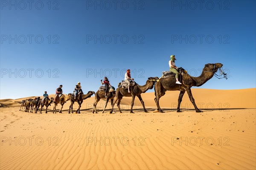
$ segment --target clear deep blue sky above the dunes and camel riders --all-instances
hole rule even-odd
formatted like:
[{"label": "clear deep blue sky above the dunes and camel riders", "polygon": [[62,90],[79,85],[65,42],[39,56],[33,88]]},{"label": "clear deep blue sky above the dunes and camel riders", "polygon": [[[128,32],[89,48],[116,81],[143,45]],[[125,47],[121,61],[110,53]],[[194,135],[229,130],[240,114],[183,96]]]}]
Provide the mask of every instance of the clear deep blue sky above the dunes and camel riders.
[{"label": "clear deep blue sky above the dunes and camel riders", "polygon": [[255,88],[256,2],[199,2],[1,0],[0,98],[97,91],[104,76],[116,87],[128,68],[143,85],[172,54],[192,76],[224,65],[229,79],[200,88]]}]

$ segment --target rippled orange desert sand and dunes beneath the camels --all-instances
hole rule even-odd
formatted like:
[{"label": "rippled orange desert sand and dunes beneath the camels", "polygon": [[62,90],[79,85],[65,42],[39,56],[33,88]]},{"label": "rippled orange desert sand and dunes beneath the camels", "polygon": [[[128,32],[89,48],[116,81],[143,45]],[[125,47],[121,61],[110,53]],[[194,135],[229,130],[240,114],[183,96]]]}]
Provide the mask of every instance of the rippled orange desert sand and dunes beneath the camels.
[{"label": "rippled orange desert sand and dunes beneath the camels", "polygon": [[[1,99],[0,169],[256,169],[256,88],[192,89],[202,113],[187,94],[176,112],[178,91],[160,99],[142,94],[149,113],[135,100],[122,100],[122,111],[92,113],[94,96],[84,100],[81,114],[19,111],[22,99]],[[54,95],[50,95],[54,96]],[[75,103],[74,109],[78,108]],[[116,106],[115,106],[116,108]],[[59,108],[58,108],[59,109]],[[57,110],[58,112],[58,110]]]}]

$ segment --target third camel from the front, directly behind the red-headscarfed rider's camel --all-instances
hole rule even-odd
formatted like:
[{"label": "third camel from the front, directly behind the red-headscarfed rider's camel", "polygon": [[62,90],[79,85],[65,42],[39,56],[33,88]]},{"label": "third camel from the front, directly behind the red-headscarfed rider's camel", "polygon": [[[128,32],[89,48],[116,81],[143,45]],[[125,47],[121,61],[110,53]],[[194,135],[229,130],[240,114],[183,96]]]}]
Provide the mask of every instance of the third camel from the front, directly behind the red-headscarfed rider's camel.
[{"label": "third camel from the front, directly behind the red-headscarfed rider's camel", "polygon": [[[108,101],[109,99],[111,100],[111,106],[113,105],[113,99],[114,97],[116,96],[116,91],[112,91],[112,92],[108,92],[107,94],[107,99],[106,99],[106,103],[105,105],[103,106],[103,111],[102,113],[104,113],[107,105],[108,105]],[[97,103],[99,102],[100,99],[105,99],[105,91],[97,91],[96,94],[95,94],[95,101],[93,103],[93,113],[95,111],[95,113],[98,113],[96,111],[96,106],[97,106]]]}]

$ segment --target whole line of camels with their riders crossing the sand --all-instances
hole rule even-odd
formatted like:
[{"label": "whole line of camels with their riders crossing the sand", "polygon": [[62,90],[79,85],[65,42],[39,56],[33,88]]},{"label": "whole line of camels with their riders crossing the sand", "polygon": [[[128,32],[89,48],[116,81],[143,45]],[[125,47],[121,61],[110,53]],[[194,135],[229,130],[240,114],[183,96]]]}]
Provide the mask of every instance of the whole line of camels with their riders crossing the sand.
[{"label": "whole line of camels with their riders crossing the sand", "polygon": [[[75,90],[71,94],[64,95],[62,94],[62,85],[59,86],[59,88],[56,89],[55,98],[51,97],[49,98],[47,91],[44,92],[43,99],[40,97],[35,97],[34,99],[26,99],[21,101],[20,105],[20,111],[25,112],[31,112],[33,111],[35,113],[38,112],[40,108],[40,113],[42,113],[42,109],[45,106],[45,113],[47,113],[47,108],[50,105],[53,105],[53,113],[56,113],[56,107],[58,104],[61,105],[61,108],[59,110],[59,113],[62,113],[63,105],[70,100],[70,107],[69,112],[71,109],[71,113],[73,113],[73,104],[75,102],[78,103],[79,107],[75,111],[75,113],[80,113],[81,104],[83,103],[83,100],[90,98],[93,94],[95,94],[95,101],[93,103],[93,113],[98,113],[96,111],[97,103],[100,99],[105,99],[105,105],[103,106],[102,113],[105,112],[105,108],[109,102],[109,99],[111,100],[111,111],[110,113],[113,113],[114,111],[114,105],[117,102],[117,108],[119,109],[119,113],[122,113],[120,109],[120,102],[122,98],[125,97],[131,97],[131,110],[130,113],[133,112],[133,106],[134,106],[134,99],[137,96],[140,99],[140,102],[143,106],[143,110],[145,113],[148,111],[145,108],[143,99],[141,97],[142,93],[145,93],[148,91],[148,89],[153,89],[155,91],[155,98],[154,101],[157,105],[157,109],[154,112],[161,112],[164,113],[159,105],[159,100],[162,96],[165,95],[166,91],[180,91],[180,95],[178,97],[178,105],[177,105],[177,112],[180,111],[180,103],[182,101],[183,95],[185,92],[187,92],[190,101],[195,107],[196,112],[202,112],[198,109],[198,107],[195,104],[195,99],[192,96],[191,88],[192,86],[199,87],[206,83],[209,79],[211,79],[213,76],[216,76],[218,79],[221,79],[222,75],[227,79],[227,74],[224,73],[224,71],[221,69],[222,64],[221,63],[215,63],[215,64],[206,64],[204,65],[204,69],[199,77],[192,77],[189,74],[187,74],[187,71],[183,68],[178,68],[175,65],[175,55],[171,56],[171,59],[169,60],[169,71],[164,71],[162,77],[149,77],[145,85],[138,85],[133,78],[131,78],[131,71],[130,69],[127,70],[125,73],[125,80],[120,82],[118,84],[118,88],[115,89],[113,86],[111,86],[110,82],[108,81],[107,77],[104,77],[104,81],[102,83],[102,86],[100,86],[99,90],[95,93],[94,91],[88,91],[87,94],[84,94],[81,89],[81,83],[78,82],[75,86]],[[216,72],[221,72],[221,75],[217,75]]]}]

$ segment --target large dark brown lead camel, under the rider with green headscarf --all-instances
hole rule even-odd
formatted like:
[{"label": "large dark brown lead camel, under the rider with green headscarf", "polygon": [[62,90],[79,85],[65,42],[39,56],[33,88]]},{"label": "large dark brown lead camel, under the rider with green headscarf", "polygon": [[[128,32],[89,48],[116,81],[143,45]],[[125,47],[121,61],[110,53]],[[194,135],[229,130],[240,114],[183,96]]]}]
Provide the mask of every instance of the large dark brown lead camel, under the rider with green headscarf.
[{"label": "large dark brown lead camel, under the rider with green headscarf", "polygon": [[189,74],[183,73],[181,85],[178,85],[175,83],[176,82],[175,77],[159,79],[159,81],[155,84],[155,87],[154,87],[155,96],[156,96],[154,98],[154,100],[157,105],[157,110],[154,112],[164,113],[159,106],[160,97],[162,97],[166,91],[178,91],[178,90],[180,90],[180,95],[178,98],[177,112],[181,112],[180,111],[180,103],[182,101],[182,97],[185,94],[185,92],[188,93],[189,99],[195,107],[195,111],[202,112],[195,105],[195,100],[192,96],[191,87],[192,86],[199,87],[199,86],[203,85],[209,79],[211,79],[213,77],[214,73],[217,72],[218,68],[221,68],[221,67],[222,67],[221,63],[206,64],[204,66],[202,74],[199,77],[192,77]]}]

